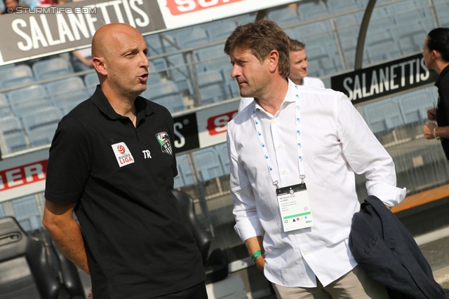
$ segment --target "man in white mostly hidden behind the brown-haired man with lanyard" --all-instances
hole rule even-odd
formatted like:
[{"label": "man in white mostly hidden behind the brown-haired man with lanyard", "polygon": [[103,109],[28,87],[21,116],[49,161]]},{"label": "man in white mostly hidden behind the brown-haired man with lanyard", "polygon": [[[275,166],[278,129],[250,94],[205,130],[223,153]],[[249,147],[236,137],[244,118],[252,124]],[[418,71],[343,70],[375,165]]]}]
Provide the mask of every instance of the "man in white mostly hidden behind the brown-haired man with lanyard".
[{"label": "man in white mostly hidden behind the brown-haired man with lanyard", "polygon": [[[290,58],[290,75],[288,78],[296,85],[324,88],[324,83],[320,78],[307,77],[309,62],[307,61],[306,45],[295,39],[288,40],[288,57]],[[253,102],[252,97],[242,97],[239,104],[239,112],[251,102]]]}]

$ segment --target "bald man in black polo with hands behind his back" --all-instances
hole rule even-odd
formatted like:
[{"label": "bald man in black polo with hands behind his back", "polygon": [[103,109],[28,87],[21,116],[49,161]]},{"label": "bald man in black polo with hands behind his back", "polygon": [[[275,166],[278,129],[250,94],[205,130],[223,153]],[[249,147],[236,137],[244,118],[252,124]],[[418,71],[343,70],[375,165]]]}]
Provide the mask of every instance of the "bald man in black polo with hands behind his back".
[{"label": "bald man in black polo with hands behind his back", "polygon": [[105,25],[93,36],[100,85],[58,125],[43,224],[91,274],[94,298],[207,298],[201,254],[171,193],[173,119],[139,96],[147,51],[129,25]]}]

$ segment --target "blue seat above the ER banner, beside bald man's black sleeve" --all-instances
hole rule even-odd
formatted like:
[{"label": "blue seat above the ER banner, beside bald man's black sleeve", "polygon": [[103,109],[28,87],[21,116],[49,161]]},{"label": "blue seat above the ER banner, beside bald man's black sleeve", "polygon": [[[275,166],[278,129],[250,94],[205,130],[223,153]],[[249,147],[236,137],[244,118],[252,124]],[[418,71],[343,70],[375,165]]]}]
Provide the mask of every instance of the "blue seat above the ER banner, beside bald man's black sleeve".
[{"label": "blue seat above the ER banner, beside bald man's black sleeve", "polygon": [[47,107],[23,116],[31,146],[50,144],[63,114],[57,107]]}]

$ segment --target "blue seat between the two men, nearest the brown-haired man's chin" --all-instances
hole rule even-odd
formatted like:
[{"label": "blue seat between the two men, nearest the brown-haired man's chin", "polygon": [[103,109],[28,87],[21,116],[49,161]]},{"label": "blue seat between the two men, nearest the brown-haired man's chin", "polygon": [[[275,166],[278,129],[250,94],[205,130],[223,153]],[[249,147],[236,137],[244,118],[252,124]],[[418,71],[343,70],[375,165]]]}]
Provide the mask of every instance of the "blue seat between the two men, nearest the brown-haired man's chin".
[{"label": "blue seat between the two men, nearest the brown-haired man's chin", "polygon": [[199,92],[203,104],[220,102],[227,99],[225,80],[220,71],[205,71],[197,74]]}]

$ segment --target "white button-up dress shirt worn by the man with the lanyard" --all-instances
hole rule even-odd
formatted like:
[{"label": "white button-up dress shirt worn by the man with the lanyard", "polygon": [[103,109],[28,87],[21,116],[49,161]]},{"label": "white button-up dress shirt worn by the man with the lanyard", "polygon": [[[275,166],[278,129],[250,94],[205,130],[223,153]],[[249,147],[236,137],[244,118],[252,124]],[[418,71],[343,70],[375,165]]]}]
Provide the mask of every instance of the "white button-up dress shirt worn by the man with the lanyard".
[{"label": "white button-up dress shirt worn by the man with the lanyard", "polygon": [[[295,134],[295,97],[300,99],[301,137],[307,192],[314,226],[284,232],[276,187],[253,123],[253,111],[279,179],[279,188],[300,183]],[[228,124],[230,187],[235,230],[243,241],[264,236],[264,274],[281,286],[323,286],[356,266],[348,237],[360,209],[354,172],[366,174],[369,195],[388,206],[400,203],[394,163],[349,99],[329,89],[297,86],[272,116],[253,101]],[[316,277],[315,277],[316,276]]]}]

